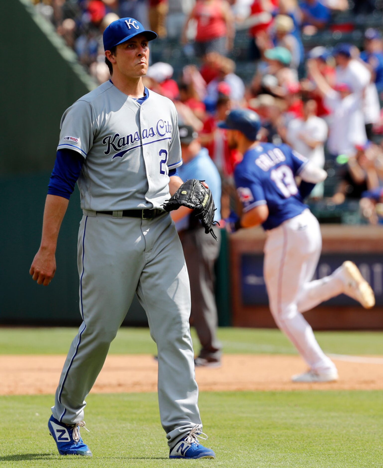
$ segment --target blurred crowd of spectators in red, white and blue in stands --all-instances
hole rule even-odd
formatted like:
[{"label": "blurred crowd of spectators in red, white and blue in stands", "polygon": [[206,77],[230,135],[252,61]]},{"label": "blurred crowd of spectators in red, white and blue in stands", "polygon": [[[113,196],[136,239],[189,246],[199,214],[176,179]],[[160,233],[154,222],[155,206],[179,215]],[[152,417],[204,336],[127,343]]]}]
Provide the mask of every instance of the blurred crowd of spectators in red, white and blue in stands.
[{"label": "blurred crowd of spectators in red, white and blue in stands", "polygon": [[383,224],[382,0],[31,0],[88,72],[109,79],[102,32],[131,16],[156,31],[145,86],[176,105],[234,203],[224,130],[234,107],[257,111],[261,140],[324,167],[309,204],[321,222]]}]

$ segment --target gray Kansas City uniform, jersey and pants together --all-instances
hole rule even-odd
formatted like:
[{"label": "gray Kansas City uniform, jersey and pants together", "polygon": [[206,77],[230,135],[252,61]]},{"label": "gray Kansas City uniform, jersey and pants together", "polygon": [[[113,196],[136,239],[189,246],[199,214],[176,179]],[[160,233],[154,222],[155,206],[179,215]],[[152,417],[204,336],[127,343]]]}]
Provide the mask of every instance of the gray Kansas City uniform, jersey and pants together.
[{"label": "gray Kansas City uniform, jersey and pants together", "polygon": [[86,395],[136,292],[157,344],[160,417],[173,447],[201,425],[181,242],[169,213],[141,219],[99,212],[160,208],[169,197],[169,168],[182,163],[175,107],[153,91],[139,105],[104,83],[65,111],[58,148],[85,158],[78,238],[83,322],[52,414],[66,424],[83,419]]}]

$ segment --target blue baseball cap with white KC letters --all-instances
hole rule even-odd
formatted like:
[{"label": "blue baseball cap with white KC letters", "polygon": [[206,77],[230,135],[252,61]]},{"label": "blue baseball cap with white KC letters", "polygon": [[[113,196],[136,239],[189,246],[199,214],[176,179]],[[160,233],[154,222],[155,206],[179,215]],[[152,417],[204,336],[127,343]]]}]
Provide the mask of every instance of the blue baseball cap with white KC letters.
[{"label": "blue baseball cap with white KC letters", "polygon": [[109,24],[103,34],[104,50],[110,51],[112,47],[129,41],[138,34],[145,34],[148,41],[156,39],[157,34],[149,31],[134,18],[120,18]]}]

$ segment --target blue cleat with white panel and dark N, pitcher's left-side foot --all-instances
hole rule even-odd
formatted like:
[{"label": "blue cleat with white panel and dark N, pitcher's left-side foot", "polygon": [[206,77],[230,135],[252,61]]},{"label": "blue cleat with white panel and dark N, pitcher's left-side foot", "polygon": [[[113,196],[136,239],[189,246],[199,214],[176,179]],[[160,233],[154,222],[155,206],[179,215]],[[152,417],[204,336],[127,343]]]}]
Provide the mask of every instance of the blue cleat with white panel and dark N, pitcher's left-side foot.
[{"label": "blue cleat with white panel and dark N, pitcher's left-side foot", "polygon": [[60,423],[53,416],[49,418],[48,429],[57,444],[60,455],[85,455],[92,456],[89,447],[84,444],[80,436],[80,427],[85,427],[85,422],[77,424]]}]

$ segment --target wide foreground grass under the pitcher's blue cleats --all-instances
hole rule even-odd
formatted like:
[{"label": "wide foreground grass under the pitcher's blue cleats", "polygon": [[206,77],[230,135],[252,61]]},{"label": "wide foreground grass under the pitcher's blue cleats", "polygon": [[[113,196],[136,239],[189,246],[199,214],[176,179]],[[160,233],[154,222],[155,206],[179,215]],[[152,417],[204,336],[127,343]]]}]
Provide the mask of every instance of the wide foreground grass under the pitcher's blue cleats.
[{"label": "wide foreground grass under the pitcher's blue cleats", "polygon": [[168,460],[156,394],[89,395],[93,458],[62,457],[46,427],[53,396],[0,397],[1,467],[382,467],[382,392],[202,393],[216,460]]}]

